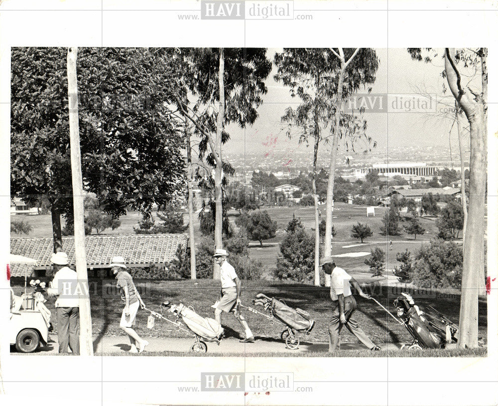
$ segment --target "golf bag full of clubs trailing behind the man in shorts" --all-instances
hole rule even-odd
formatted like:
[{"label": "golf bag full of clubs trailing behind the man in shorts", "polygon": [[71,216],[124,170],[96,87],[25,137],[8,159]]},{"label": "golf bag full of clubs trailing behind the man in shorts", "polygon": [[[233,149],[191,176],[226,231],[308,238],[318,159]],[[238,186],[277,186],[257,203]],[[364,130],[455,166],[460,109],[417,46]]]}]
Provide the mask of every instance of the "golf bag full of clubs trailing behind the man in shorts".
[{"label": "golf bag full of clubs trailing behind the man in shorts", "polygon": [[309,333],[315,325],[315,321],[307,311],[300,308],[293,309],[287,306],[282,300],[269,298],[262,293],[256,295],[254,304],[263,306],[276,319],[293,330]]}]

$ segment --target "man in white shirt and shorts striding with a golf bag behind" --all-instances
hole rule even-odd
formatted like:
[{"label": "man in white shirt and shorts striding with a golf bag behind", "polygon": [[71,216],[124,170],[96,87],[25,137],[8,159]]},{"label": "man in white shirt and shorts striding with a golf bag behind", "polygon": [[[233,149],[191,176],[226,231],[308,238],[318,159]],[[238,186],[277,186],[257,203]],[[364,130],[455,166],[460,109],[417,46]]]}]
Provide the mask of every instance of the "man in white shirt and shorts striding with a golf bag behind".
[{"label": "man in white shirt and shorts striding with a golf bag behind", "polygon": [[221,313],[233,312],[234,316],[244,329],[246,337],[243,338],[241,343],[253,343],[254,335],[250,331],[249,325],[239,312],[239,303],[241,302],[241,280],[234,267],[227,261],[228,253],[226,250],[216,250],[213,256],[216,263],[220,266],[220,279],[221,279],[221,298],[213,306],[215,308],[215,319],[221,324]]}]

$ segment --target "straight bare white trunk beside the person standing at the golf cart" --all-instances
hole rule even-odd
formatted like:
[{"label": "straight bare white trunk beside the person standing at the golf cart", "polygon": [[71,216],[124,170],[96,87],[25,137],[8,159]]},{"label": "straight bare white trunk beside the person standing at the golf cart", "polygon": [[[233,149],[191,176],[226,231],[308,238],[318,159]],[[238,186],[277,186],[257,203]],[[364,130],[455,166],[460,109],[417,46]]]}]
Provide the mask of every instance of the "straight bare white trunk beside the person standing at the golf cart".
[{"label": "straight bare white trunk beside the person standing at the golf cart", "polygon": [[[71,177],[74,205],[74,251],[78,287],[83,294],[80,301],[80,354],[93,355],[92,317],[90,314],[90,295],[88,288],[87,259],[85,253],[85,223],[83,208],[83,179],[81,174],[81,148],[78,123],[78,80],[76,60],[78,48],[67,50],[67,81],[69,98],[69,136],[71,140]],[[86,292],[86,293],[85,293]]]}]

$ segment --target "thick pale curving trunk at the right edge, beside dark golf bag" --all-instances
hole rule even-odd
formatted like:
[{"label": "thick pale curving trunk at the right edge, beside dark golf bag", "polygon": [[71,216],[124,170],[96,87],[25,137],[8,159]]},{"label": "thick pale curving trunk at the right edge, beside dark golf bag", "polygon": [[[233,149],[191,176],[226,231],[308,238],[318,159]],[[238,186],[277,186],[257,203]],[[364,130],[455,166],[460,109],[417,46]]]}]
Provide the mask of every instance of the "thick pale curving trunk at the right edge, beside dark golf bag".
[{"label": "thick pale curving trunk at the right edge, beside dark golf bag", "polygon": [[460,73],[453,61],[454,48],[445,50],[445,72],[450,90],[464,111],[470,124],[470,182],[469,212],[465,230],[462,295],[460,302],[460,333],[458,346],[478,346],[479,290],[484,284],[484,215],[486,202],[487,134],[485,132],[485,104],[462,88]]}]

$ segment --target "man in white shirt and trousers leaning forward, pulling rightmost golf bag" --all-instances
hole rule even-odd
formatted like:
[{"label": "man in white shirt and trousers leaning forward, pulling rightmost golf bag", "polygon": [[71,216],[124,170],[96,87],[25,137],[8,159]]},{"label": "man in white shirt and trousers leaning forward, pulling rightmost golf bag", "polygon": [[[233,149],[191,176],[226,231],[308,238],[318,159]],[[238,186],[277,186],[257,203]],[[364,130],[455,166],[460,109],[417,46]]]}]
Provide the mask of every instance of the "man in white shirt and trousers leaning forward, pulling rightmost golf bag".
[{"label": "man in white shirt and trousers leaning forward, pulling rightmost golf bag", "polygon": [[350,283],[353,284],[360,296],[366,299],[370,299],[370,296],[363,292],[355,278],[348,275],[342,268],[336,267],[332,257],[325,257],[320,266],[323,267],[325,273],[332,275],[330,281],[330,298],[332,299],[334,310],[332,320],[329,324],[329,352],[333,353],[336,351],[339,344],[339,333],[343,325],[368,348],[375,351],[380,350],[380,347],[373,344],[367,334],[365,334],[353,315],[356,310],[356,300],[351,293]]}]

